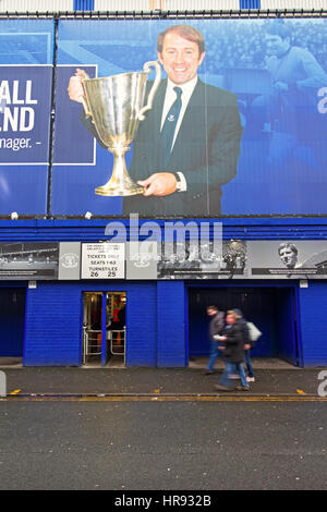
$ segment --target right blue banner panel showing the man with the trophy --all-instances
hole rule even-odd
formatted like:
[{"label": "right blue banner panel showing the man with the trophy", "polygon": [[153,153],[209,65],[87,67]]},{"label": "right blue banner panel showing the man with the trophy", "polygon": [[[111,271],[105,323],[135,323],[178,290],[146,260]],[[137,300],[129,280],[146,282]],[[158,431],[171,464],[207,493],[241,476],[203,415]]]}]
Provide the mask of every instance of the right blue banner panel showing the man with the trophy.
[{"label": "right blue banner panel showing the man with the trophy", "polygon": [[[60,130],[73,126],[62,138],[81,151],[95,139],[96,157],[89,146],[85,166],[56,166],[53,214],[326,214],[326,48],[323,19],[61,21],[58,64],[72,80],[57,105]],[[156,77],[144,64],[156,60],[161,80],[140,120]],[[118,141],[135,195],[108,188]]]}]

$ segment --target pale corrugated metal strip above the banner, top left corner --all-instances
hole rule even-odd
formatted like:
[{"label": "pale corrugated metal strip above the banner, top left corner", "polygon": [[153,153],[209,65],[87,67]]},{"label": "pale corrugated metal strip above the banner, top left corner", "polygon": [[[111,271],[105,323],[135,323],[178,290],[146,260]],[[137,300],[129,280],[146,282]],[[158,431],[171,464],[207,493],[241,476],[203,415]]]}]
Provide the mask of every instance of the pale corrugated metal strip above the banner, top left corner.
[{"label": "pale corrugated metal strip above the banner, top left corner", "polygon": [[0,12],[73,11],[74,0],[0,0]]}]

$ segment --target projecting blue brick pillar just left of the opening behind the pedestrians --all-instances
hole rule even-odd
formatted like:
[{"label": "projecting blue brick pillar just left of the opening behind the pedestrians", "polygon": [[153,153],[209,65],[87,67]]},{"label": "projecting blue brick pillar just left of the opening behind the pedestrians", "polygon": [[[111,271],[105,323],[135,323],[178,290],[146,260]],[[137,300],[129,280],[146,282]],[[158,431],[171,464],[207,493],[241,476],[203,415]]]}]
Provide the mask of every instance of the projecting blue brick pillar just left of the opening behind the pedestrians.
[{"label": "projecting blue brick pillar just left of the opening behind the pedestrians", "polygon": [[185,289],[183,281],[158,281],[158,367],[185,366]]}]

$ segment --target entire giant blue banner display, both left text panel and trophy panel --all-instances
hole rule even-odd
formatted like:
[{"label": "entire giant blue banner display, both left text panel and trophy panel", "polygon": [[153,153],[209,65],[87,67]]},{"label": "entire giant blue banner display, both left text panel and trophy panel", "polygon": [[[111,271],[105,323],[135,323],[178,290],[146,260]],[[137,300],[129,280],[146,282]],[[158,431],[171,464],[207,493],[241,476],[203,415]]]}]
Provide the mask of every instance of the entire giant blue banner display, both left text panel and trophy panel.
[{"label": "entire giant blue banner display, both left text panel and trophy panel", "polygon": [[327,214],[326,19],[59,20],[55,63],[52,20],[0,40],[0,215]]}]

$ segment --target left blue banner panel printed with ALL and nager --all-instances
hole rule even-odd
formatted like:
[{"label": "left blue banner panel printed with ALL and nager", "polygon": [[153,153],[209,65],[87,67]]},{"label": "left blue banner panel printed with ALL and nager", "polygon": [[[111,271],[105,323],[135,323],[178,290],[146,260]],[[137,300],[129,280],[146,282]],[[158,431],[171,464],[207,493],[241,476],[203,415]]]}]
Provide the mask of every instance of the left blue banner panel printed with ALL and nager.
[{"label": "left blue banner panel printed with ALL and nager", "polygon": [[47,212],[53,21],[0,21],[0,215]]}]

